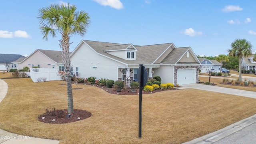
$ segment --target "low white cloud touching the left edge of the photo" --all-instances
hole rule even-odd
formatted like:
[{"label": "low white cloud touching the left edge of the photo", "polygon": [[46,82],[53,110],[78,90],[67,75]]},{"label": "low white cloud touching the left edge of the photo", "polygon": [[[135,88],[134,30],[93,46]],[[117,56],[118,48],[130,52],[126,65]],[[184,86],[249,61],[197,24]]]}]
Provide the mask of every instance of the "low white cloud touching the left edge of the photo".
[{"label": "low white cloud touching the left edge of the photo", "polygon": [[17,30],[15,32],[8,32],[7,30],[0,30],[0,38],[29,38],[30,36],[25,31]]}]

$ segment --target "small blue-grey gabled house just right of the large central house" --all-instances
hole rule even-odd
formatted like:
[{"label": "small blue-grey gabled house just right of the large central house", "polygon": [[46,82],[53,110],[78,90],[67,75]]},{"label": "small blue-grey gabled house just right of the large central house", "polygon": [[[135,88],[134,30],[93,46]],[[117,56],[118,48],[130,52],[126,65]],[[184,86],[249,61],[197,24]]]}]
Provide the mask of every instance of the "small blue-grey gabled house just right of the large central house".
[{"label": "small blue-grey gabled house just right of the large central house", "polygon": [[218,62],[217,60],[208,60],[207,58],[198,58],[198,60],[202,64],[202,73],[206,73],[207,69],[211,70],[220,68],[220,62]]}]

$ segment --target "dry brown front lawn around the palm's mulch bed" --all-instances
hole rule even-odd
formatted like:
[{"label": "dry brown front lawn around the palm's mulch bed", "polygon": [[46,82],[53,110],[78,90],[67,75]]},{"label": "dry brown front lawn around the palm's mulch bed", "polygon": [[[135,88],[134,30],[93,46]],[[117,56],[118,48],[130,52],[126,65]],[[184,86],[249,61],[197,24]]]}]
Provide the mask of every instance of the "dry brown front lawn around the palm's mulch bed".
[{"label": "dry brown front lawn around the palm's mulch bed", "polygon": [[[1,74],[0,74],[1,75]],[[74,108],[88,119],[46,124],[37,117],[46,107],[67,108],[61,81],[34,83],[4,79],[8,93],[0,103],[0,128],[12,133],[60,140],[60,144],[180,144],[256,114],[256,99],[204,90],[169,90],[142,95],[142,138],[138,138],[138,95],[114,95],[79,85]]]}]

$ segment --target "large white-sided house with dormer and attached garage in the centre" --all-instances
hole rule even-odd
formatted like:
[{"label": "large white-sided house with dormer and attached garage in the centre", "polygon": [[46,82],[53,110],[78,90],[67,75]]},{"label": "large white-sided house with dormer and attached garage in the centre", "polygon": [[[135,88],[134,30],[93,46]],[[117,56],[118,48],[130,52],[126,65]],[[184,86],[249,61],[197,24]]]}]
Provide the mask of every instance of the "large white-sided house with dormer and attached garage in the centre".
[{"label": "large white-sided house with dormer and attached garage in the centre", "polygon": [[[190,47],[176,48],[173,43],[136,46],[82,40],[70,54],[71,74],[84,78],[130,81],[137,79],[139,64],[144,64],[148,78],[160,76],[162,83],[198,82],[200,61]],[[129,74],[120,70],[128,68]]]}]

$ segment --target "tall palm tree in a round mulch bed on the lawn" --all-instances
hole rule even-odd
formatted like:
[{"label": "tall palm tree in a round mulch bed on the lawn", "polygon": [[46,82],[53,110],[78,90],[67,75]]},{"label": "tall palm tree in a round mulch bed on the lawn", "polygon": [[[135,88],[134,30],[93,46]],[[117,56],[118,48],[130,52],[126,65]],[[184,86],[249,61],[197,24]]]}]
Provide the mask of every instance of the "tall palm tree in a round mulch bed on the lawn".
[{"label": "tall palm tree in a round mulch bed on the lawn", "polygon": [[62,48],[62,60],[66,73],[67,93],[68,93],[68,113],[74,112],[73,94],[70,75],[70,56],[69,46],[70,36],[79,34],[84,36],[86,29],[90,24],[90,16],[84,12],[76,11],[76,6],[72,4],[57,5],[39,9],[40,30],[43,34],[43,39],[48,40],[48,35],[56,37],[60,32],[62,39],[59,40],[60,48]]}]

